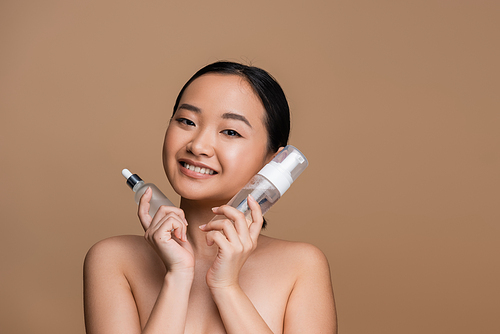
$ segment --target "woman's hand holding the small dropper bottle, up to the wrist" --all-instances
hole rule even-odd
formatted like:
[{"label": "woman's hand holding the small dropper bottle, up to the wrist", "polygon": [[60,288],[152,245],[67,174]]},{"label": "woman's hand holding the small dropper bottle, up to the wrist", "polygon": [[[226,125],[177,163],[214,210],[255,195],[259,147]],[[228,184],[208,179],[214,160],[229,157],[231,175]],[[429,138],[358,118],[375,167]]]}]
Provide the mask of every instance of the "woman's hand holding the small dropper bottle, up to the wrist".
[{"label": "woman's hand holding the small dropper bottle, up to the wrist", "polygon": [[146,232],[144,238],[158,253],[169,272],[193,271],[194,252],[187,240],[184,211],[174,206],[161,206],[155,216],[151,217],[151,197],[152,191],[148,188],[139,201],[137,215]]}]

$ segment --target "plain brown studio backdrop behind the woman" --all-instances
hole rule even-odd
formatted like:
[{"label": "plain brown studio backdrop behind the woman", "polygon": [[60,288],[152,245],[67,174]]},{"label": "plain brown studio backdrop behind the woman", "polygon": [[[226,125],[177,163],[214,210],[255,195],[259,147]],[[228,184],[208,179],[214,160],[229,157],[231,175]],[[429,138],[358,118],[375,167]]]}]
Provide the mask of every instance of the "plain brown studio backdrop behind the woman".
[{"label": "plain brown studio backdrop behind the woman", "polygon": [[203,65],[282,84],[310,167],[268,235],[328,256],[350,333],[499,333],[498,1],[0,2],[0,332],[83,333],[82,262]]}]

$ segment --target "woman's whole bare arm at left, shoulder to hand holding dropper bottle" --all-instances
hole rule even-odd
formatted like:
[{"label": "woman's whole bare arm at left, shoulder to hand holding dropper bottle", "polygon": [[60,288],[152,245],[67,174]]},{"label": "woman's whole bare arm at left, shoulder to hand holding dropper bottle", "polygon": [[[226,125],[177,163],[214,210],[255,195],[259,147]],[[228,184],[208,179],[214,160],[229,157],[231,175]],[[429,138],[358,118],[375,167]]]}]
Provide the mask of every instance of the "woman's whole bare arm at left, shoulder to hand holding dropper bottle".
[{"label": "woman's whole bare arm at left, shoulder to hand holding dropper bottle", "polygon": [[166,275],[148,321],[142,330],[130,285],[139,261],[147,255],[142,254],[141,259],[141,247],[137,244],[110,238],[94,245],[85,259],[85,323],[89,334],[184,333],[194,277],[187,222],[184,212],[174,207],[162,206],[154,217],[149,216],[151,195],[148,189],[142,196],[138,216],[144,237],[165,265]]}]

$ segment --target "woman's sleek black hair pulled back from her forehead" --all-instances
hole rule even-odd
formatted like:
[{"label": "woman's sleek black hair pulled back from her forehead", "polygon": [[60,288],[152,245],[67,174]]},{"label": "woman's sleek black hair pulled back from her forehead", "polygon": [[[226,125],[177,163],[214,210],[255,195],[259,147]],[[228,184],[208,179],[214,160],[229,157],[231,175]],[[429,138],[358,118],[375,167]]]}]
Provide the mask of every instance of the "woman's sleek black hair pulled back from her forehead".
[{"label": "woman's sleek black hair pulled back from her forehead", "polygon": [[290,134],[290,108],[285,93],[269,73],[258,67],[228,61],[219,61],[203,67],[182,87],[175,100],[172,116],[177,111],[179,101],[186,88],[196,78],[207,73],[233,74],[246,79],[259,96],[266,110],[264,124],[267,130],[268,150],[277,152],[280,147],[286,146]]}]

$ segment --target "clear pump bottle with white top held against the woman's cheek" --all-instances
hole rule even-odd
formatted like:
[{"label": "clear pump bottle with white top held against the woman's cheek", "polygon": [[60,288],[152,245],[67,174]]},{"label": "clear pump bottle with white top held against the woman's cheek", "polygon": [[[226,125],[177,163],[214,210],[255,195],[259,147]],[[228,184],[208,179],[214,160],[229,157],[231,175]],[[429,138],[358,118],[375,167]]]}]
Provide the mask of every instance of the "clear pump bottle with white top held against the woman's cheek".
[{"label": "clear pump bottle with white top held against the woman's cheek", "polygon": [[250,182],[227,204],[243,212],[245,218],[251,221],[252,216],[247,196],[252,195],[259,203],[262,215],[264,215],[290,188],[293,181],[299,177],[307,165],[306,157],[294,146],[287,145],[252,177]]}]

